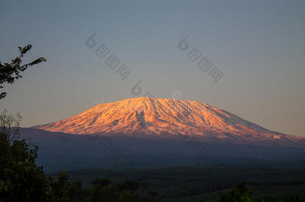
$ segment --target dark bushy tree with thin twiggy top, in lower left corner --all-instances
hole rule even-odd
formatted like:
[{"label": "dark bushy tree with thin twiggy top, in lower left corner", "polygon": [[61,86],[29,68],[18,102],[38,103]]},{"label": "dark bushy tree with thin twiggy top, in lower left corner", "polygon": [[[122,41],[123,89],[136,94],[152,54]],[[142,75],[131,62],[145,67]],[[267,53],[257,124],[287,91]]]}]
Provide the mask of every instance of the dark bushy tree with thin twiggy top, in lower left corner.
[{"label": "dark bushy tree with thin twiggy top, in lower left corner", "polygon": [[0,115],[0,201],[44,201],[47,181],[34,163],[38,147],[18,140],[19,121],[19,114]]}]

